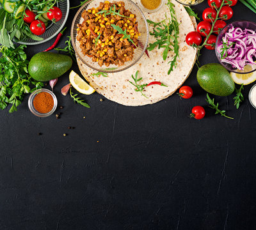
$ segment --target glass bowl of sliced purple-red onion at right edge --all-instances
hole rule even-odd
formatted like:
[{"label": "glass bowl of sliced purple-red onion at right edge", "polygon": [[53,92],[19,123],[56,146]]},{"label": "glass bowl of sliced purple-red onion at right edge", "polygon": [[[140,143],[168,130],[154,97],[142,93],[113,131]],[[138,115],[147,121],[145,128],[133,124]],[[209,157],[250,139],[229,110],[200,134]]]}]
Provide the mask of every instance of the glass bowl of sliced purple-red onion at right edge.
[{"label": "glass bowl of sliced purple-red onion at right edge", "polygon": [[216,40],[216,56],[230,72],[256,70],[256,23],[246,20],[225,26]]}]

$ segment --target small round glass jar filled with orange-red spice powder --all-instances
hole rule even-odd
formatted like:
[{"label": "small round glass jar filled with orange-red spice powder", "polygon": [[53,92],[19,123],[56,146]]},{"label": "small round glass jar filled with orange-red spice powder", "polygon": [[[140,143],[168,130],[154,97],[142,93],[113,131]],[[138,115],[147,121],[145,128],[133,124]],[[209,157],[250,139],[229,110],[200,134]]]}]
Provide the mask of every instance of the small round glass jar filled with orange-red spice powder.
[{"label": "small round glass jar filled with orange-red spice powder", "polygon": [[49,89],[37,89],[29,96],[29,110],[40,118],[46,118],[54,113],[58,100]]}]

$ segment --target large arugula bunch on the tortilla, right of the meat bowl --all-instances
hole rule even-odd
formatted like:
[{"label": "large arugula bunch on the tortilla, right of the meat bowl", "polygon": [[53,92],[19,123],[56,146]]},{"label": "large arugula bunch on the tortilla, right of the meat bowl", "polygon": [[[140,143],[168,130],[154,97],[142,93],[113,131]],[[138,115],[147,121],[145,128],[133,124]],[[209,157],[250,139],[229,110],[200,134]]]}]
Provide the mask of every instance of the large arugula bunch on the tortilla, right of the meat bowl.
[{"label": "large arugula bunch on the tortilla, right of the meat bowl", "polygon": [[147,20],[149,24],[154,26],[153,32],[150,32],[150,35],[156,38],[156,42],[150,43],[148,50],[154,50],[156,47],[158,49],[163,48],[163,59],[166,60],[168,56],[168,52],[173,50],[175,55],[172,58],[170,63],[170,69],[168,70],[168,74],[173,71],[173,68],[177,67],[177,58],[179,57],[179,22],[177,21],[174,4],[168,0],[167,6],[171,13],[171,19],[168,19],[165,15],[165,19],[162,22],[152,22],[151,20]]}]

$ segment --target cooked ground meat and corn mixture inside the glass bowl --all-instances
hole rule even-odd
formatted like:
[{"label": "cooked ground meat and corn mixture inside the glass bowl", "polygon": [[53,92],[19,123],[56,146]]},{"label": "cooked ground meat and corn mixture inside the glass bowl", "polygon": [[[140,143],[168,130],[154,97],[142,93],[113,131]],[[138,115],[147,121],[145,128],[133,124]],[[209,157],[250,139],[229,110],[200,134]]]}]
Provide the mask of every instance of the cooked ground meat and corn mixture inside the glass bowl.
[{"label": "cooked ground meat and corn mixture inside the glass bowl", "polygon": [[[115,10],[125,17],[115,15],[109,10]],[[97,8],[84,10],[82,17],[83,23],[77,24],[77,41],[84,55],[92,57],[92,61],[97,62],[99,66],[107,67],[110,64],[122,66],[126,61],[132,60],[134,49],[138,47],[140,33],[136,15],[125,10],[124,2],[105,1]],[[127,38],[124,39],[123,34],[118,34],[111,24],[119,26],[123,31],[126,29],[126,33],[131,36],[136,46]]]}]

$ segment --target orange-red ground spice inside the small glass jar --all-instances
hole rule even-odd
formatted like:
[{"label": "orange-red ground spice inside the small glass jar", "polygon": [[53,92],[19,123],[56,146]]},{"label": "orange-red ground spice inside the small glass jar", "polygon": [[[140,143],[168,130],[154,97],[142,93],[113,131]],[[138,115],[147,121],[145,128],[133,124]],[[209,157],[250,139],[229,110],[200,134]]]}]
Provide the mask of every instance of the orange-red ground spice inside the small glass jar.
[{"label": "orange-red ground spice inside the small glass jar", "polygon": [[33,105],[36,111],[46,114],[51,112],[54,107],[54,100],[52,95],[46,92],[38,93],[33,100]]}]

